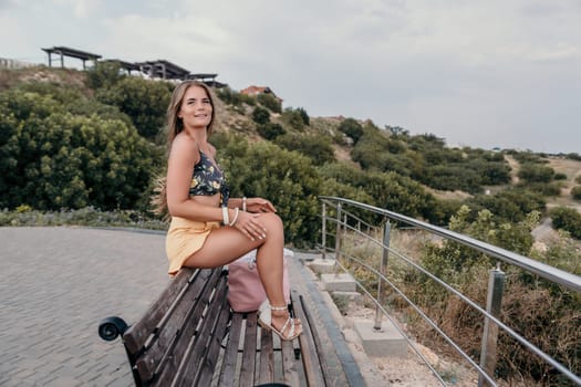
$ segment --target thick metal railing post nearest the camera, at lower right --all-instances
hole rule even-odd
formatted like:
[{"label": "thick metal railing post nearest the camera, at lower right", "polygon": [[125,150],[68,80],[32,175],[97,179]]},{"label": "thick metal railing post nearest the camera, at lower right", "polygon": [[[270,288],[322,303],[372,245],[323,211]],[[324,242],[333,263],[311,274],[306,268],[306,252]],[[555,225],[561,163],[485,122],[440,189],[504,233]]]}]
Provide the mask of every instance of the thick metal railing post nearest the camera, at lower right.
[{"label": "thick metal railing post nearest the camera, at lower right", "polygon": [[[505,272],[500,270],[500,263],[489,271],[488,296],[486,299],[486,311],[495,317],[500,315],[502,293],[505,291]],[[497,358],[498,325],[485,317],[483,333],[483,347],[480,351],[480,368],[494,378]],[[478,376],[478,387],[488,386],[483,375]]]}]

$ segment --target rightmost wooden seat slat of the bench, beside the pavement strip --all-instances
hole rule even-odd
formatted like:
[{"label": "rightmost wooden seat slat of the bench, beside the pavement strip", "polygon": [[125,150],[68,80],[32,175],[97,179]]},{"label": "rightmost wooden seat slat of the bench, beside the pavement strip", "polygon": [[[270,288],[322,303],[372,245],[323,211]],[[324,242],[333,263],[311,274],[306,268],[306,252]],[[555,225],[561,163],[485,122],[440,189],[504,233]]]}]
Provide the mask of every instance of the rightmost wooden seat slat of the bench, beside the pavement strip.
[{"label": "rightmost wooden seat slat of the bench, beside the pavement strip", "polygon": [[[314,349],[314,339],[313,339],[313,330],[314,326],[311,326],[309,318],[303,311],[303,305],[299,300],[299,295],[295,291],[291,292],[292,306],[293,311],[298,318],[302,322],[303,333],[299,336],[299,345],[301,347],[301,359],[304,368],[304,376],[307,378],[308,386],[326,386],[323,376],[323,368],[319,363],[319,355]],[[324,359],[323,359],[324,360]]]}]

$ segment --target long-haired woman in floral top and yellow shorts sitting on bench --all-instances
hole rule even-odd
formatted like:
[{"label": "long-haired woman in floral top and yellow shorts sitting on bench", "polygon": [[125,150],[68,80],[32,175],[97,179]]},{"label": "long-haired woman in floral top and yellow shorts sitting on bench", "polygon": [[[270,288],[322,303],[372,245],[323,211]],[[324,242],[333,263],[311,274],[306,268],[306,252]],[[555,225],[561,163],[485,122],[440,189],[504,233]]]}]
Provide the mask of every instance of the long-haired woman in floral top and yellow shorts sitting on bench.
[{"label": "long-haired woman in floral top and yellow shorts sitting on bench", "polygon": [[179,84],[167,111],[169,157],[163,203],[172,216],[166,251],[169,274],[180,268],[216,268],[257,249],[257,268],[267,293],[259,323],[281,339],[302,332],[291,318],[282,291],[283,228],[272,203],[261,198],[229,198],[208,143],[215,118],[209,88]]}]

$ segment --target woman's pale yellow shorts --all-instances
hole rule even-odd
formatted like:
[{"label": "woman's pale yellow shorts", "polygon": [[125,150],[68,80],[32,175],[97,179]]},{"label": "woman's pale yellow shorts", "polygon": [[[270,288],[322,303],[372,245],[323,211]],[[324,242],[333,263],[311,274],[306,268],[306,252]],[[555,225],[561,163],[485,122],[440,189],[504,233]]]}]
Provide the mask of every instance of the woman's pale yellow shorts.
[{"label": "woman's pale yellow shorts", "polygon": [[176,274],[184,262],[201,249],[210,231],[219,227],[219,222],[201,222],[172,217],[165,240],[165,251],[169,260],[168,273],[170,275]]}]

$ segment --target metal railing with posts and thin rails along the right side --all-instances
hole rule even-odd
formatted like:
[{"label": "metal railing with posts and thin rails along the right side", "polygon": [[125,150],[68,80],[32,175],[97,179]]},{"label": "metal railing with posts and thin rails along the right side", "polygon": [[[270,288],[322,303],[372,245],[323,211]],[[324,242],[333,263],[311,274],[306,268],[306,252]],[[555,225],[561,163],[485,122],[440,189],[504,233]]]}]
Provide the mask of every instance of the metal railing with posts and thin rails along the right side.
[{"label": "metal railing with posts and thin rails along the right side", "polygon": [[[391,316],[391,313],[388,313],[386,307],[384,306],[384,300],[382,297],[385,285],[390,286],[394,293],[396,293],[402,300],[404,300],[405,303],[409,307],[412,307],[412,310],[414,310],[435,332],[437,332],[437,334],[445,342],[447,342],[454,348],[455,352],[457,352],[461,356],[461,358],[464,358],[478,373],[478,386],[497,386],[497,383],[494,379],[494,375],[497,362],[497,342],[499,331],[502,331],[506,335],[520,343],[522,347],[541,358],[544,363],[549,364],[570,381],[581,386],[580,376],[575,375],[564,365],[562,365],[553,357],[541,351],[539,347],[530,343],[526,337],[523,337],[513,328],[506,325],[502,321],[499,320],[505,287],[505,272],[500,270],[500,263],[520,268],[521,270],[528,273],[533,273],[547,281],[564,286],[579,294],[581,294],[581,276],[568,273],[566,271],[556,269],[542,262],[491,245],[489,243],[485,243],[474,238],[403,216],[397,212],[388,211],[385,209],[381,209],[377,207],[369,206],[344,198],[320,197],[319,199],[322,202],[321,248],[323,259],[326,259],[329,253],[333,253],[335,264],[339,265],[345,272],[350,272],[350,270],[343,263],[341,263],[342,261],[351,262],[353,264],[359,265],[360,268],[365,268],[367,273],[371,273],[372,275],[376,276],[377,289],[375,294],[372,294],[372,290],[365,289],[363,283],[355,280],[357,287],[364,294],[370,296],[373,303],[375,304],[374,328],[381,328],[381,321],[383,317],[390,320],[394,324],[395,328],[400,331],[400,333],[404,337],[406,337],[412,349],[419,356],[419,358],[422,358],[422,360],[428,366],[428,368],[434,373],[436,378],[443,385],[446,385],[446,381],[442,378],[442,376],[434,368],[434,366],[425,358],[425,356],[422,354],[422,352],[418,349],[415,343],[408,337],[408,335],[403,332],[403,330],[400,327],[398,322]],[[331,208],[331,211],[329,211],[328,207]],[[377,226],[374,227],[370,222],[363,221],[361,217],[357,217],[352,212],[347,211],[347,208],[356,209],[356,211],[359,211],[360,213],[361,211],[363,211],[367,215],[381,218],[382,221],[378,222],[378,227],[383,227],[383,240],[371,236],[372,232],[370,231],[373,229],[377,229]],[[330,212],[334,212],[334,216],[330,216]],[[486,308],[481,307],[476,302],[457,291],[450,284],[442,281],[439,278],[428,272],[426,269],[416,263],[417,260],[411,259],[409,257],[406,257],[402,252],[390,247],[392,222],[397,222],[398,224],[403,224],[406,228],[411,227],[417,230],[422,230],[428,233],[429,236],[438,236],[444,240],[455,241],[465,247],[483,252],[488,257],[495,258],[497,260],[497,264],[496,266],[492,266],[489,270]],[[335,223],[334,233],[330,232],[333,228],[329,228],[328,223]],[[362,231],[362,224],[366,228],[367,232]],[[364,260],[351,255],[349,251],[346,251],[346,249],[343,249],[343,243],[345,241],[345,236],[347,234],[347,232],[352,236],[357,236],[361,239],[365,239],[372,243],[375,243],[382,249],[382,257],[378,268],[374,268]],[[334,239],[333,248],[328,247],[329,239]],[[402,291],[396,285],[394,281],[387,278],[386,268],[390,257],[401,259],[406,264],[413,266],[415,270],[419,271],[421,273],[433,280],[435,283],[439,284],[446,291],[457,296],[459,300],[468,304],[471,308],[474,308],[481,315],[481,317],[484,318],[484,330],[478,364],[457,343],[455,343],[454,339],[449,337],[443,331],[443,328],[438,326],[436,322],[434,322],[426,313],[424,313],[422,307],[415,304],[411,300],[411,297],[406,295],[404,291]],[[353,275],[353,278],[355,278],[355,275]]]}]

